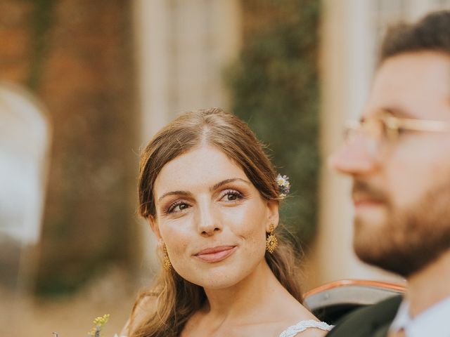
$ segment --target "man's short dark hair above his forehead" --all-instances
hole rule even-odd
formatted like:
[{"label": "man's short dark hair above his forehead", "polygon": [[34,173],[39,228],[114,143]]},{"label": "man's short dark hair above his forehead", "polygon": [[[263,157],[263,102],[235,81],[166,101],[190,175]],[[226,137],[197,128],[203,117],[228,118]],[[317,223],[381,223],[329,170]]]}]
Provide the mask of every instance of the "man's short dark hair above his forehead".
[{"label": "man's short dark hair above his forehead", "polygon": [[380,63],[416,51],[450,55],[450,11],[432,12],[414,24],[402,23],[388,29],[381,46]]}]

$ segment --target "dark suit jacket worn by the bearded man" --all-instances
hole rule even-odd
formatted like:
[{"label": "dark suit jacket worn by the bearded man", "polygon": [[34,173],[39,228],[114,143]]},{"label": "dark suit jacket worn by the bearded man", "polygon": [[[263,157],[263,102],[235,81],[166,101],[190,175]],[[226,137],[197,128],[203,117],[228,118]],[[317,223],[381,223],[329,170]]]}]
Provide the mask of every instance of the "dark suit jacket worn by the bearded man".
[{"label": "dark suit jacket worn by the bearded man", "polygon": [[401,296],[356,310],[340,319],[327,337],[385,337],[394,320]]}]

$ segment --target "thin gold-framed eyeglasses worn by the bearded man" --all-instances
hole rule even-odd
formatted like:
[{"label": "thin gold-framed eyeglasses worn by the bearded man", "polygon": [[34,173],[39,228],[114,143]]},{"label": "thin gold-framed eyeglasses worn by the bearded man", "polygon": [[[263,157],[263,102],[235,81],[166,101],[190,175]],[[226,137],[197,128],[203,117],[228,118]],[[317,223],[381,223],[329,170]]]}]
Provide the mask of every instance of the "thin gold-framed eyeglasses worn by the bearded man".
[{"label": "thin gold-framed eyeglasses worn by the bearded man", "polygon": [[450,123],[428,119],[399,118],[382,110],[377,117],[361,121],[347,121],[345,123],[345,141],[349,144],[354,143],[358,136],[362,135],[365,139],[366,150],[375,156],[382,145],[394,143],[398,136],[405,131],[450,132]]}]

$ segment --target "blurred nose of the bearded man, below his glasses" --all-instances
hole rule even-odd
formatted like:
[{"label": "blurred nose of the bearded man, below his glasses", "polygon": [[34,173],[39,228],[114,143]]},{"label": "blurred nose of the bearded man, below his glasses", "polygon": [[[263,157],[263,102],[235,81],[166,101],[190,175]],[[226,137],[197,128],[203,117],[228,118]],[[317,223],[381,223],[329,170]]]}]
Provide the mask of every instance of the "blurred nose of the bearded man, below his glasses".
[{"label": "blurred nose of the bearded man, below his glasses", "polygon": [[378,161],[369,153],[364,139],[355,139],[341,145],[328,157],[328,166],[349,175],[370,173],[378,166]]}]

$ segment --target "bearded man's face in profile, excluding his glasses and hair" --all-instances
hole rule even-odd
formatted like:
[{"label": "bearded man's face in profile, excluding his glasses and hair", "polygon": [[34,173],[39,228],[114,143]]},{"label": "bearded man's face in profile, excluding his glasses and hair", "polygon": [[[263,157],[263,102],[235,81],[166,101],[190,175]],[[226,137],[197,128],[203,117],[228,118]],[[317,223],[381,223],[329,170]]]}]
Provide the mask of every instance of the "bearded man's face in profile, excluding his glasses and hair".
[{"label": "bearded man's face in profile, excluding his glasses and hair", "polygon": [[[450,55],[385,60],[362,119],[375,120],[380,110],[446,121],[450,128]],[[408,277],[450,249],[450,132],[400,129],[390,140],[370,137],[359,133],[330,164],[353,178],[356,254]]]}]

